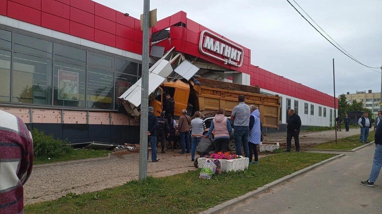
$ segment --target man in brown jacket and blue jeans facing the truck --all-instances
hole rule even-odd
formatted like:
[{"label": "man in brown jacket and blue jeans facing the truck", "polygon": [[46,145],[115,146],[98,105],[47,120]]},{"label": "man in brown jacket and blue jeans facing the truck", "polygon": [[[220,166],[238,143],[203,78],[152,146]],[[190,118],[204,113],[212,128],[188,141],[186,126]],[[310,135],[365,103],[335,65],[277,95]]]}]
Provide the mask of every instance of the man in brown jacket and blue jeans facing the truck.
[{"label": "man in brown jacket and blue jeans facing the truck", "polygon": [[[190,152],[190,143],[189,143],[189,131],[191,128],[191,118],[187,115],[187,110],[182,110],[182,116],[179,118],[177,132],[180,133],[180,143],[182,151],[178,152],[179,154],[191,153]],[[187,149],[187,151],[185,151]]]}]

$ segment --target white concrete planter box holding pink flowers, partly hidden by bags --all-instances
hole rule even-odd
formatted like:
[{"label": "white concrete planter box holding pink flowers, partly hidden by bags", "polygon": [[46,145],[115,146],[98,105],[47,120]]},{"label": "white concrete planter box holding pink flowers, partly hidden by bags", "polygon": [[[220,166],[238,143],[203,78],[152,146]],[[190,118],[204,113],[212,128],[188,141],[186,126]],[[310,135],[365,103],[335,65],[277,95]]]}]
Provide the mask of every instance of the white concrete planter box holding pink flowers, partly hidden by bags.
[{"label": "white concrete planter box holding pink flowers, partly hidden by bags", "polygon": [[[207,160],[215,160],[212,158],[198,158],[197,159],[197,165],[199,168],[203,168],[204,164],[207,162]],[[249,164],[249,158],[238,158],[238,159],[232,159],[232,160],[219,160],[220,166],[222,168],[223,172],[229,172],[229,171],[243,171],[244,169],[248,168]]]}]

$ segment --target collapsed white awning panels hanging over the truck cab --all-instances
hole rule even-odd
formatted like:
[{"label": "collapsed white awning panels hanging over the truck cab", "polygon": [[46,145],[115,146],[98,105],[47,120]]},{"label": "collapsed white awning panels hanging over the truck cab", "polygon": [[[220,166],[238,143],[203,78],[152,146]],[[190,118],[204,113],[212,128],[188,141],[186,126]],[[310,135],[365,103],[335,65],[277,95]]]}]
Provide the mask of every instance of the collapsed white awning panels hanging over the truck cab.
[{"label": "collapsed white awning panels hanging over the truck cab", "polygon": [[[163,82],[182,78],[188,81],[198,70],[199,68],[187,61],[183,54],[175,52],[172,48],[149,69],[149,96]],[[142,78],[118,97],[130,115],[140,115],[141,90]]]}]

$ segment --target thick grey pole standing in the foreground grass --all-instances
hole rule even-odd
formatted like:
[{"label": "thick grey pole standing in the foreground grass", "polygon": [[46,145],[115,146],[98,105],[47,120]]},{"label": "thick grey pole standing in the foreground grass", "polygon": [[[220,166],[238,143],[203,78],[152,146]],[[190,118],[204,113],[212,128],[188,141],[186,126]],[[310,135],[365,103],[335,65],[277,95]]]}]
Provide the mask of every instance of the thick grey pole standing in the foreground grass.
[{"label": "thick grey pole standing in the foreground grass", "polygon": [[147,177],[147,123],[149,113],[149,27],[150,0],[144,0],[142,41],[141,132],[139,139],[139,180],[144,180]]}]

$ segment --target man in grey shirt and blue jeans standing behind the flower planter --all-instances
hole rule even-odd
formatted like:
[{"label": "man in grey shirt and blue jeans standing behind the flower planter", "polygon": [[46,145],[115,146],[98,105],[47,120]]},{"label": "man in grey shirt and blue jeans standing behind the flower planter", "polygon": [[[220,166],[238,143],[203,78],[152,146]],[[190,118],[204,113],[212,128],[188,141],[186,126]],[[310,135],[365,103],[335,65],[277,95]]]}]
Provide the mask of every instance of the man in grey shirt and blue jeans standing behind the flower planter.
[{"label": "man in grey shirt and blue jeans standing behind the flower planter", "polygon": [[241,155],[241,145],[244,147],[245,157],[249,158],[249,116],[251,115],[251,109],[245,104],[245,96],[243,94],[238,97],[239,105],[236,105],[231,114],[231,120],[233,120],[236,154]]}]

